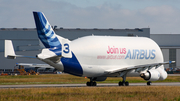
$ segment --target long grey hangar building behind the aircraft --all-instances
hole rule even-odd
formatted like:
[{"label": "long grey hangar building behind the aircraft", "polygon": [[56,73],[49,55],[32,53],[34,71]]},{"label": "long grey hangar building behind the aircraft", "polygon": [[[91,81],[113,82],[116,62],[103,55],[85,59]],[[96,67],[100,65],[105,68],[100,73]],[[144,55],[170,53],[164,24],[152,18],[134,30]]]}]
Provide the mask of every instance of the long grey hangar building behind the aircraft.
[{"label": "long grey hangar building behind the aircraft", "polygon": [[[64,29],[56,28],[56,34],[74,40],[89,35],[105,36],[129,36],[129,37],[150,37],[161,47],[164,60],[175,60],[176,64],[165,67],[180,66],[180,38],[179,34],[150,34],[150,28],[135,29]],[[12,71],[16,63],[43,63],[38,59],[17,58],[15,60],[4,58],[4,40],[13,41],[16,54],[35,56],[41,52],[37,32],[35,28],[1,28],[0,29],[0,69]]]}]

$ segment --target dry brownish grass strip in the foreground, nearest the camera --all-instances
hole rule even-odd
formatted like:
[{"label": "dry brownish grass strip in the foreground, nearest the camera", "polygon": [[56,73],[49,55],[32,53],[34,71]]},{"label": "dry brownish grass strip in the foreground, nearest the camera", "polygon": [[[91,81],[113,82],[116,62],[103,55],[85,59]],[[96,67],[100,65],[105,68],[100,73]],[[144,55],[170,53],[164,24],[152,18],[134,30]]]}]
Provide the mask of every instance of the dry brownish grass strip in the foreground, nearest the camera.
[{"label": "dry brownish grass strip in the foreground, nearest the camera", "polygon": [[180,101],[179,86],[1,89],[0,101]]}]

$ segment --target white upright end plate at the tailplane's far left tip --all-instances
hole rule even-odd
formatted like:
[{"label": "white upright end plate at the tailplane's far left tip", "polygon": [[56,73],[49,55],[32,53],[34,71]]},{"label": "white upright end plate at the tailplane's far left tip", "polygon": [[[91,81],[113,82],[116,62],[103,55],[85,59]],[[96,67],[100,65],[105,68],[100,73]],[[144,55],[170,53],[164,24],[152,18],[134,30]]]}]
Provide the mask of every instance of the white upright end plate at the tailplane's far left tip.
[{"label": "white upright end plate at the tailplane's far left tip", "polygon": [[5,40],[5,48],[4,48],[4,57],[8,59],[15,59],[16,55],[14,52],[14,47],[11,40]]}]

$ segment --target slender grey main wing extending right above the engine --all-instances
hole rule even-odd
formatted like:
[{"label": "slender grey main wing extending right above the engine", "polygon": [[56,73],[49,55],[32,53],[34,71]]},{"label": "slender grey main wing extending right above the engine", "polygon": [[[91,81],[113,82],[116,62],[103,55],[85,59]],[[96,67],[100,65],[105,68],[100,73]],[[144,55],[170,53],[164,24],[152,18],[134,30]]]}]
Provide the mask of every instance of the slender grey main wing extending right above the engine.
[{"label": "slender grey main wing extending right above the engine", "polygon": [[167,61],[167,62],[162,62],[162,63],[152,63],[152,64],[145,64],[145,65],[137,65],[137,66],[132,66],[132,67],[126,67],[126,68],[121,68],[121,69],[106,70],[105,73],[113,74],[113,73],[118,73],[118,72],[124,72],[124,73],[121,73],[121,75],[120,75],[120,76],[123,76],[125,73],[127,73],[128,71],[133,70],[133,69],[135,69],[135,72],[141,72],[141,71],[144,71],[146,69],[150,70],[153,67],[155,67],[157,69],[161,65],[171,64],[171,63],[175,63],[175,61]]}]

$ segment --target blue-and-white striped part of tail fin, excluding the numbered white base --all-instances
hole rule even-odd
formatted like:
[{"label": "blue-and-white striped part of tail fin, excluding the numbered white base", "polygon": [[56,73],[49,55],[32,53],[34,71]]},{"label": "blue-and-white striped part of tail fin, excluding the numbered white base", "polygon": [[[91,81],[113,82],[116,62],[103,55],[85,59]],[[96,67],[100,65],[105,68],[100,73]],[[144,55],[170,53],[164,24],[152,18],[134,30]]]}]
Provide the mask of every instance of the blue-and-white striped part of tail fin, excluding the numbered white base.
[{"label": "blue-and-white striped part of tail fin, excluding the numbered white base", "polygon": [[42,12],[33,12],[36,23],[38,37],[46,48],[59,48],[62,45],[57,35],[53,31],[48,20]]}]

